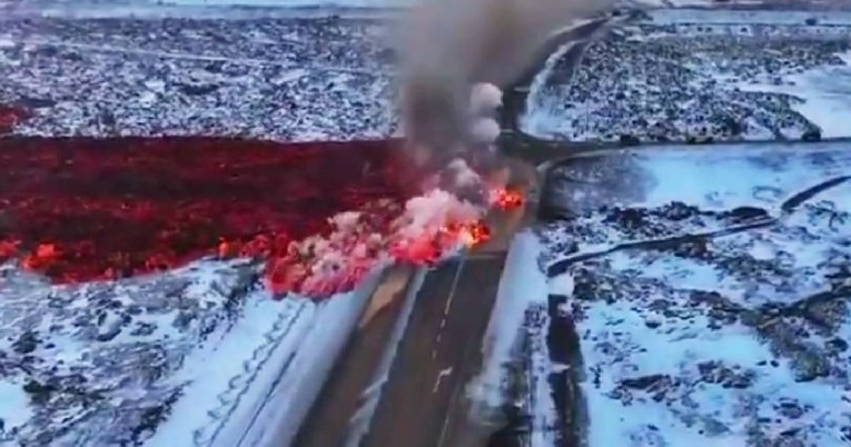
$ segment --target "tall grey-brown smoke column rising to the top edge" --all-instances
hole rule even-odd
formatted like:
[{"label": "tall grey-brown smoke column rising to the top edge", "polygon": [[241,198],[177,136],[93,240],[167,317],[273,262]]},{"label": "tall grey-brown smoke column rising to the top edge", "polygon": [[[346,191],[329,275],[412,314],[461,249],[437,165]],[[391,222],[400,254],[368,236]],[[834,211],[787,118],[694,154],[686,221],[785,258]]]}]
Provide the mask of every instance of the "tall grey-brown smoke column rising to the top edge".
[{"label": "tall grey-brown smoke column rising to the top edge", "polygon": [[399,30],[402,115],[418,157],[434,162],[464,148],[472,83],[514,82],[550,34],[611,0],[419,1]]}]

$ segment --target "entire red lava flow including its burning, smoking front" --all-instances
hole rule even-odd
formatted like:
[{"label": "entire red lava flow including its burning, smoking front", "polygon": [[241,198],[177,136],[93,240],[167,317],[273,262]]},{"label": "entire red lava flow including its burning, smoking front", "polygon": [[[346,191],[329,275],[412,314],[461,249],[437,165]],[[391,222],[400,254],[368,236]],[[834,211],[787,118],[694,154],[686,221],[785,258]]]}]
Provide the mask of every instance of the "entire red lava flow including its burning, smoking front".
[{"label": "entire red lava flow including its burning, smoking front", "polygon": [[0,262],[67,284],[253,257],[273,291],[327,297],[485,240],[481,207],[414,197],[396,143],[3,138]]}]

